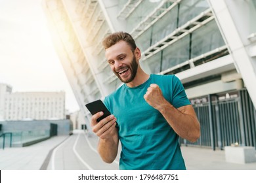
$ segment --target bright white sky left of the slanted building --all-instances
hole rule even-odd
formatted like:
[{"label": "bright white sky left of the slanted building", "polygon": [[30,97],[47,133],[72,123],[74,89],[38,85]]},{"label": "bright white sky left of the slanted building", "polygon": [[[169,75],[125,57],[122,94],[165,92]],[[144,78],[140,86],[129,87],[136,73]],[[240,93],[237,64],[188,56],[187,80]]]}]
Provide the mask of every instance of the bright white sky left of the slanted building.
[{"label": "bright white sky left of the slanted building", "polygon": [[79,110],[54,50],[42,0],[0,0],[0,83],[12,92],[66,92]]}]

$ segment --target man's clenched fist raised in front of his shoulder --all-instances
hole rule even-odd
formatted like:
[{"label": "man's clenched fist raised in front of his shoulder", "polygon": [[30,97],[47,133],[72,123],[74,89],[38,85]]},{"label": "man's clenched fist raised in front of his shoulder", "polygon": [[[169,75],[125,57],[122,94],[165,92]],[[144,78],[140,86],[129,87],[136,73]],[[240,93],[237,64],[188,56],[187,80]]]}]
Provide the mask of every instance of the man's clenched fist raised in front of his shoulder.
[{"label": "man's clenched fist raised in front of his shoulder", "polygon": [[150,84],[146,94],[144,95],[146,102],[152,107],[159,110],[161,105],[166,103],[163,93],[161,92],[160,87],[157,84]]}]

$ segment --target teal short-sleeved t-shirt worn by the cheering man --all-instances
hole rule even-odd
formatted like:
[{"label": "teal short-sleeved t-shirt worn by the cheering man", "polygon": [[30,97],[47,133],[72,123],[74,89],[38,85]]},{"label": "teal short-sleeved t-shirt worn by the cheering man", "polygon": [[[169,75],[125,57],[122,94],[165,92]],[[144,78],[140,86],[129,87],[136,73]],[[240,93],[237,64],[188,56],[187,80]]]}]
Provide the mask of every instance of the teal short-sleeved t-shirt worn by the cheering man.
[{"label": "teal short-sleeved t-shirt worn by the cheering man", "polygon": [[123,84],[108,95],[104,103],[117,118],[121,142],[119,169],[186,169],[179,136],[143,97],[153,83],[175,108],[190,105],[181,81],[174,75],[150,75],[140,86]]}]

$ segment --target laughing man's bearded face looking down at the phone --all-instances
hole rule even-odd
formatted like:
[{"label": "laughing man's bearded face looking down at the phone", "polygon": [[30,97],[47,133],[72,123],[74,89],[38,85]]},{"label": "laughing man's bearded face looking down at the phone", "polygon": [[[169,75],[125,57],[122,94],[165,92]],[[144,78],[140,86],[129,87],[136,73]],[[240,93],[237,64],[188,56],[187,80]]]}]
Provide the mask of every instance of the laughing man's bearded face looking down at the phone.
[{"label": "laughing man's bearded face looking down at the phone", "polygon": [[125,41],[119,41],[106,49],[106,58],[110,67],[119,80],[124,83],[133,81],[136,76],[138,63],[131,47]]}]

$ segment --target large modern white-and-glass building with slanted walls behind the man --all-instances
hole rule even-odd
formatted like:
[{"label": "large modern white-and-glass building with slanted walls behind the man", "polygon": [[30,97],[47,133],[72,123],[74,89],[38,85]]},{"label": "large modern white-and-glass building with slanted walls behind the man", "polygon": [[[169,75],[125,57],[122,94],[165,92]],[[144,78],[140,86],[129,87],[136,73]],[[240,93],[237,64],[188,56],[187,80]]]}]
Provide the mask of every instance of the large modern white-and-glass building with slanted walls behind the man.
[{"label": "large modern white-and-glass building with slanted walls behind the man", "polygon": [[201,124],[191,145],[256,146],[255,1],[45,0],[43,7],[85,123],[85,104],[121,84],[102,39],[127,31],[144,70],[181,79]]}]

